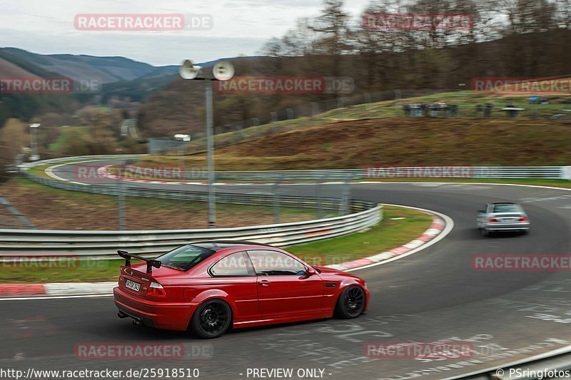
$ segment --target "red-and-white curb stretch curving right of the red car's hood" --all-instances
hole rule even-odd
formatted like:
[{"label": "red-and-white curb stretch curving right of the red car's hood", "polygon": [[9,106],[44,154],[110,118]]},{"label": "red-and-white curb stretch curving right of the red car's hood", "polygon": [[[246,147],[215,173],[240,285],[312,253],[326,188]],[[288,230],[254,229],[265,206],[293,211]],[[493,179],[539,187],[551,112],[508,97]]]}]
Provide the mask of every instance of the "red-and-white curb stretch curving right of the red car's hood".
[{"label": "red-and-white curb stretch curving right of the red car's hood", "polygon": [[423,235],[420,235],[415,240],[408,242],[405,245],[393,248],[393,250],[389,250],[387,252],[379,253],[378,255],[363,257],[363,259],[353,260],[349,262],[342,262],[341,264],[326,265],[326,267],[339,270],[355,269],[358,267],[365,267],[365,265],[371,265],[384,260],[389,260],[396,256],[404,255],[405,253],[425,245],[427,242],[430,242],[430,240],[433,240],[435,237],[440,235],[441,232],[443,232],[445,227],[446,222],[440,217],[433,215],[433,224],[430,225],[430,228],[426,230]]}]

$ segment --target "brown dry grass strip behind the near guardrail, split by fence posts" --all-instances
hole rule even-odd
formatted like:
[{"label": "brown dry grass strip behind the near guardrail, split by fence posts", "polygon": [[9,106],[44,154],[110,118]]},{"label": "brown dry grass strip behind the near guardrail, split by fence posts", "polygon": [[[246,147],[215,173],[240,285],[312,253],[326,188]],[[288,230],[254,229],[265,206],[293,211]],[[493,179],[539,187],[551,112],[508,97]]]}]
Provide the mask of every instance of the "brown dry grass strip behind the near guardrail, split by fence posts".
[{"label": "brown dry grass strip behind the near guardrail, split by fence posts", "polygon": [[[43,230],[116,230],[118,202],[112,195],[61,190],[14,178],[3,185],[5,196],[34,225]],[[128,230],[180,230],[208,227],[208,202],[126,197]],[[327,210],[326,216],[335,216]],[[318,210],[280,207],[280,222],[313,220]],[[274,223],[272,206],[216,205],[217,227]]]}]

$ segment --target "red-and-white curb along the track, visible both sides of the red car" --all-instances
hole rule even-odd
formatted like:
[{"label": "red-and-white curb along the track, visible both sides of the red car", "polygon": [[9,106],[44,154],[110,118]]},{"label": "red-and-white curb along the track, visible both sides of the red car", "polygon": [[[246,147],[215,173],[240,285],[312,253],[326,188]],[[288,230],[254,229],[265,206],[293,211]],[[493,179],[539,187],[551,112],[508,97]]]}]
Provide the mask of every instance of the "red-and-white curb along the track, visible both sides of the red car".
[{"label": "red-and-white curb along the track, visible both sides of the red car", "polygon": [[[387,252],[379,253],[363,259],[343,262],[341,264],[326,265],[326,267],[348,270],[358,267],[365,267],[377,262],[385,261],[404,255],[412,250],[418,249],[426,243],[440,235],[446,227],[446,222],[433,215],[433,224],[415,240],[405,245],[394,248]],[[51,284],[0,284],[0,297],[18,297],[18,296],[46,296],[46,297],[67,297],[67,296],[90,296],[90,295],[111,295],[113,287],[117,286],[117,282],[60,282]]]}]

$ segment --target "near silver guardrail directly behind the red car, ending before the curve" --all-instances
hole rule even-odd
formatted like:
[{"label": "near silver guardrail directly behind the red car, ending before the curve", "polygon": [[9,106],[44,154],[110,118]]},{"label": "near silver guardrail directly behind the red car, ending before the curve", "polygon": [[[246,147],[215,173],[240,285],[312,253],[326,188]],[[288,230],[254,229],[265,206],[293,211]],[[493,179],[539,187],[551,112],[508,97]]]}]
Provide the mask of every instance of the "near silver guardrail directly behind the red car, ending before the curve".
[{"label": "near silver guardrail directly behind the red car, ending before the curve", "polygon": [[0,230],[0,256],[103,256],[115,255],[116,250],[158,253],[193,240],[208,239],[254,240],[286,246],[365,230],[383,218],[382,205],[354,201],[352,206],[363,210],[321,220],[253,227],[148,231]]}]

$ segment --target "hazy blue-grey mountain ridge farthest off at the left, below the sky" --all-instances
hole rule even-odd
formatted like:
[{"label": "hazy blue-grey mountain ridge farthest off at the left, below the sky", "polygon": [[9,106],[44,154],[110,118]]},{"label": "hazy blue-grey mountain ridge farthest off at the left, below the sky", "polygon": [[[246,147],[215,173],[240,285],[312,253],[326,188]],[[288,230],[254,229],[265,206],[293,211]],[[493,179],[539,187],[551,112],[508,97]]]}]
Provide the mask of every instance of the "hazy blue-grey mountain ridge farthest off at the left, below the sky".
[{"label": "hazy blue-grey mountain ridge farthest off at the left, below the sky", "polygon": [[174,76],[178,66],[151,66],[148,63],[133,61],[124,57],[96,57],[72,54],[37,54],[20,48],[0,48],[0,53],[32,63],[46,71],[60,76],[73,78],[76,81],[98,80],[101,83],[116,81],[133,81],[137,78],[154,76]]}]

